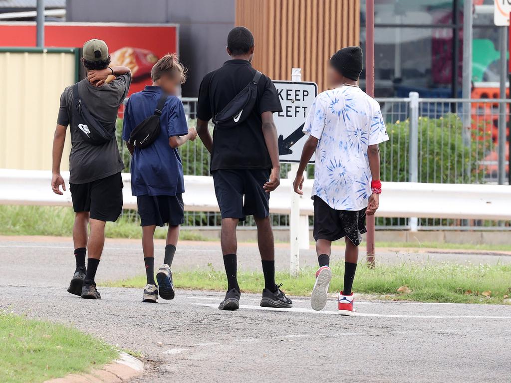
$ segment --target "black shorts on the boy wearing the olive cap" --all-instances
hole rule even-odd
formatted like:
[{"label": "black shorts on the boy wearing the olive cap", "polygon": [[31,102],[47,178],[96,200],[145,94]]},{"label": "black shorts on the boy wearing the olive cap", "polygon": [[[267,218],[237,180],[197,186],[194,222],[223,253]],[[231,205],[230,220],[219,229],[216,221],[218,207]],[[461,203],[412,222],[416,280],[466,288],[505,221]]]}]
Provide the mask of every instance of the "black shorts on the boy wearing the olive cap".
[{"label": "black shorts on the boy wearing the olive cap", "polygon": [[69,183],[75,212],[90,211],[90,218],[115,222],[123,210],[121,173],[87,183]]}]

